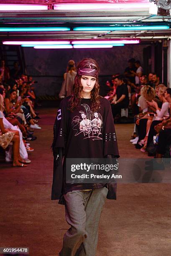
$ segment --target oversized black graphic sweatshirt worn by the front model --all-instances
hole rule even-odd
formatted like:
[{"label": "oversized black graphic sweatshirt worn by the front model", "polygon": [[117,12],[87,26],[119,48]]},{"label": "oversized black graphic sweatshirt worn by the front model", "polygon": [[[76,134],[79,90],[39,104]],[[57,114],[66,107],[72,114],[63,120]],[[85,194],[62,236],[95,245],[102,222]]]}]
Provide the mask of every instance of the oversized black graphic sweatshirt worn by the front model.
[{"label": "oversized black graphic sweatshirt worn by the front model", "polygon": [[[100,109],[93,112],[91,100],[81,99],[80,108],[71,112],[68,110],[70,97],[61,101],[54,124],[52,199],[59,197],[59,193],[53,192],[56,186],[61,188],[63,195],[72,190],[94,189],[105,185],[66,184],[66,158],[104,158],[107,155],[119,157],[110,102],[100,97]],[[64,155],[63,171],[56,164],[59,148],[62,148]]]}]

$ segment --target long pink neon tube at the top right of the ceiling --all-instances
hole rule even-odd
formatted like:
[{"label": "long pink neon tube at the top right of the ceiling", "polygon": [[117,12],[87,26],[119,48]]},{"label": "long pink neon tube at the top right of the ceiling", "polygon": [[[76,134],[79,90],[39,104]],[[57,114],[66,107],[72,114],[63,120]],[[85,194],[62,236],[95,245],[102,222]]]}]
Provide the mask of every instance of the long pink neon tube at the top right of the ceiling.
[{"label": "long pink neon tube at the top right of the ceiling", "polygon": [[56,4],[54,10],[115,10],[115,9],[139,9],[149,8],[149,3],[84,3],[84,4]]}]

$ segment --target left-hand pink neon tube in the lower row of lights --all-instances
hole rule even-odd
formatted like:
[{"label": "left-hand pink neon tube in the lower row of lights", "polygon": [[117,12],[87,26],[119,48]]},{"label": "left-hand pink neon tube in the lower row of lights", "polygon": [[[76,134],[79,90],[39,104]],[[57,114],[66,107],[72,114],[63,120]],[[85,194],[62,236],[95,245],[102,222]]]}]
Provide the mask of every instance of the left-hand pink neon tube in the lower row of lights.
[{"label": "left-hand pink neon tube in the lower row of lights", "polygon": [[70,44],[70,41],[4,41],[3,44]]}]

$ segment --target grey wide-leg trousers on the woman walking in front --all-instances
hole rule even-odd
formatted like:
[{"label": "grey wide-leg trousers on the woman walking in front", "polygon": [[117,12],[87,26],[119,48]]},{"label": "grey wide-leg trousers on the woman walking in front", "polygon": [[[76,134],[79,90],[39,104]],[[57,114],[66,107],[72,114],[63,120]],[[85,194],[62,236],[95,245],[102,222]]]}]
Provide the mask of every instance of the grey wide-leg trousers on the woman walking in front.
[{"label": "grey wide-leg trousers on the woman walking in front", "polygon": [[75,190],[66,193],[66,231],[59,256],[95,256],[98,226],[108,189]]}]

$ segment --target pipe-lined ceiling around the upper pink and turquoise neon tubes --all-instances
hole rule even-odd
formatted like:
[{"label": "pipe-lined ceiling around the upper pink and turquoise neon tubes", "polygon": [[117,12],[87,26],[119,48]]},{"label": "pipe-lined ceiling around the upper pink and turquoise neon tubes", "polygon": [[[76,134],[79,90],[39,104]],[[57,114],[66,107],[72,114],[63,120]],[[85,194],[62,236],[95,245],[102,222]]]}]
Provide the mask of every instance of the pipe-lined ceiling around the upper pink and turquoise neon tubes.
[{"label": "pipe-lined ceiling around the upper pink and turquoise neon tubes", "polygon": [[[89,1],[86,3],[142,3],[144,6],[148,0],[109,0],[109,1]],[[171,17],[150,15],[148,8],[118,9],[107,11],[97,9],[97,11],[83,10],[53,10],[55,3],[85,3],[73,0],[1,0],[0,4],[43,4],[48,5],[49,10],[41,11],[0,11],[0,27],[3,26],[67,26],[71,31],[65,32],[0,32],[0,40],[16,39],[85,39],[85,38],[141,38],[142,43],[154,40],[162,40],[171,36],[171,29],[158,31],[73,31],[75,26],[110,26],[125,24],[157,25],[160,23],[170,24]]]}]

